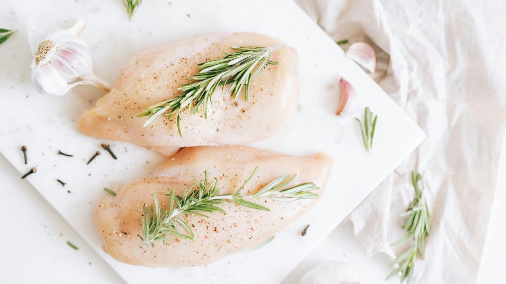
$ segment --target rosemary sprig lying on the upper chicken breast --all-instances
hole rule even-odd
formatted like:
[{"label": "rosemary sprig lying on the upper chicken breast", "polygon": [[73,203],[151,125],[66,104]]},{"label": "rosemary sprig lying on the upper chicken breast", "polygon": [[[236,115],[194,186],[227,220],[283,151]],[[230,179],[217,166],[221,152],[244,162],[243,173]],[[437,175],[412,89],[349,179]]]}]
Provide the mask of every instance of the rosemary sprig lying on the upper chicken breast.
[{"label": "rosemary sprig lying on the upper chicken breast", "polygon": [[162,114],[168,119],[176,115],[178,132],[183,137],[180,127],[181,111],[188,108],[191,113],[196,113],[202,106],[204,117],[207,118],[207,106],[212,104],[213,92],[219,85],[223,89],[225,85],[230,84],[228,92],[234,97],[234,102],[244,88],[244,100],[247,102],[249,83],[262,72],[267,64],[277,64],[277,62],[269,61],[269,57],[273,51],[282,48],[282,46],[283,44],[272,48],[230,46],[238,51],[225,53],[226,56],[223,59],[198,64],[201,67],[200,71],[190,78],[194,82],[178,88],[183,93],[178,97],[148,107],[138,117],[149,116],[144,123],[144,127],[146,127]]}]

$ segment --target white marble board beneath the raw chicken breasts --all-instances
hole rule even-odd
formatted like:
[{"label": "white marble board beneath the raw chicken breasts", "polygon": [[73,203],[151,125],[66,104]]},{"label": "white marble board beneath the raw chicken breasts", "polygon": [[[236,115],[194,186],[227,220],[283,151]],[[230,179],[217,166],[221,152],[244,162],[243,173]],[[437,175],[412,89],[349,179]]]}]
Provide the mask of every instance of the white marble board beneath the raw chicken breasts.
[{"label": "white marble board beneath the raw chicken breasts", "polygon": [[[119,1],[8,0],[0,12],[3,27],[19,30],[0,46],[0,102],[7,106],[0,114],[0,151],[20,173],[37,167],[27,180],[128,282],[167,277],[178,283],[278,282],[424,138],[387,94],[295,4],[262,0],[242,13],[244,5],[237,1],[145,2],[132,21]],[[63,98],[53,98],[33,89],[28,68],[31,52],[24,32],[27,21],[69,27],[78,18],[89,23],[82,38],[91,46],[97,75],[111,83],[122,64],[136,53],[209,32],[262,32],[296,48],[301,60],[302,109],[281,133],[253,146],[300,155],[324,151],[332,156],[333,174],[319,205],[263,249],[205,267],[149,269],[121,264],[104,254],[90,218],[104,195],[102,188],[141,178],[163,158],[141,147],[109,141],[119,159],[104,153],[87,166],[103,141],[80,134],[76,121],[102,93],[79,86]],[[379,116],[371,154],[363,148],[356,122],[334,115],[340,75],[356,86],[360,110],[369,106]],[[22,145],[29,148],[28,165],[22,162]],[[75,156],[56,155],[58,150]],[[62,187],[57,178],[67,185]],[[308,223],[311,234],[302,238],[300,231]]]}]

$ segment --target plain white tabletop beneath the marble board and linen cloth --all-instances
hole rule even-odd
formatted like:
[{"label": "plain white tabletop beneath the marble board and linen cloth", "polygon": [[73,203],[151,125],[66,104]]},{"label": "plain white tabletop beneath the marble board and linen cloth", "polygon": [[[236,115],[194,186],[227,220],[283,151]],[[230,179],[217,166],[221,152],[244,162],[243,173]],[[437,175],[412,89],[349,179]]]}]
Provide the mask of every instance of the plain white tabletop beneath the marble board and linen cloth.
[{"label": "plain white tabletop beneath the marble board and linen cloth", "polygon": [[[496,283],[502,279],[506,234],[506,173],[503,151],[496,196],[477,283]],[[123,283],[108,264],[73,230],[18,172],[0,156],[0,283]],[[20,225],[22,224],[22,225]],[[308,230],[311,233],[311,230]],[[71,241],[79,247],[70,248]],[[353,239],[352,226],[336,228],[283,281],[298,283],[310,268],[326,260],[351,263],[366,275],[369,283],[383,281],[390,260],[385,255],[363,256]],[[91,263],[91,264],[90,264]],[[259,272],[261,273],[261,272]],[[388,283],[398,283],[396,278]]]}]

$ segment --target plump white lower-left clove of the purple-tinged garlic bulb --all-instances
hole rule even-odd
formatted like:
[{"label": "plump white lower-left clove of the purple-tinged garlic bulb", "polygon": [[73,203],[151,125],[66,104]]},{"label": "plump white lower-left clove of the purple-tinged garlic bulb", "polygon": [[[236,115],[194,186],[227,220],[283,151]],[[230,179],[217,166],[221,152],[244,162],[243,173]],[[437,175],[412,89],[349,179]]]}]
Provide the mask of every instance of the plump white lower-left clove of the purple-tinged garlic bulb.
[{"label": "plump white lower-left clove of the purple-tinged garlic bulb", "polygon": [[67,80],[51,63],[35,66],[31,79],[41,94],[63,96],[70,89]]}]

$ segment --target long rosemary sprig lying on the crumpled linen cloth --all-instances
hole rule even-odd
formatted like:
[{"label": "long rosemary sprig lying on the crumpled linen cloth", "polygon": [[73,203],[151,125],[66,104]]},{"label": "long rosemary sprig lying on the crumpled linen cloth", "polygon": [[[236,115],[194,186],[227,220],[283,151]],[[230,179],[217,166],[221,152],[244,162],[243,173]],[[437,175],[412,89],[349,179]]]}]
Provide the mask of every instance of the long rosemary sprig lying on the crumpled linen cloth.
[{"label": "long rosemary sprig lying on the crumpled linen cloth", "polygon": [[407,234],[397,240],[392,245],[397,245],[409,239],[413,239],[414,245],[408,251],[396,258],[390,266],[399,264],[399,267],[392,271],[385,280],[390,279],[395,274],[401,272],[401,283],[406,279],[406,283],[411,282],[411,277],[414,271],[414,262],[417,254],[419,253],[422,258],[425,257],[424,253],[424,238],[429,235],[430,214],[427,202],[423,196],[423,188],[418,188],[421,176],[411,172],[411,181],[413,182],[415,196],[413,201],[405,213],[401,216],[410,215],[409,219],[402,226],[407,231]]}]

